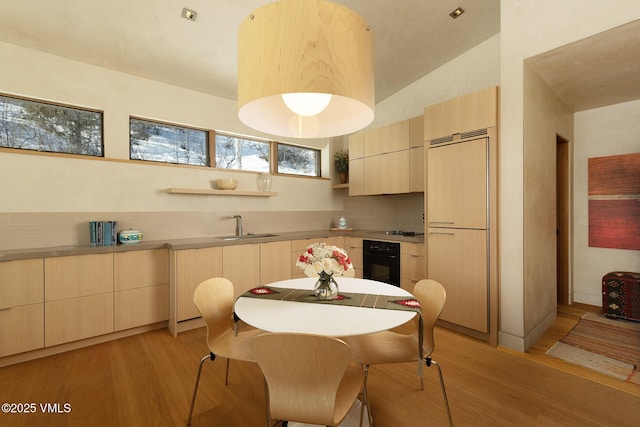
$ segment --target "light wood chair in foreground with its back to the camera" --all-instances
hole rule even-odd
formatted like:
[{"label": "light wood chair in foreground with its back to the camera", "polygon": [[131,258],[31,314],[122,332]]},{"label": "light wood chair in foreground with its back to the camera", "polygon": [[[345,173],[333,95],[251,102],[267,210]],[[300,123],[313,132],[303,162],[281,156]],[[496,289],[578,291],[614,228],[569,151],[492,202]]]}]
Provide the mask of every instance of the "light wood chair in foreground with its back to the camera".
[{"label": "light wood chair in foreground with its back to the camera", "polygon": [[[267,426],[271,420],[336,426],[363,395],[364,371],[342,340],[322,335],[271,333],[251,343],[265,377]],[[284,421],[286,420],[286,421]],[[360,415],[362,426],[362,411]]]}]

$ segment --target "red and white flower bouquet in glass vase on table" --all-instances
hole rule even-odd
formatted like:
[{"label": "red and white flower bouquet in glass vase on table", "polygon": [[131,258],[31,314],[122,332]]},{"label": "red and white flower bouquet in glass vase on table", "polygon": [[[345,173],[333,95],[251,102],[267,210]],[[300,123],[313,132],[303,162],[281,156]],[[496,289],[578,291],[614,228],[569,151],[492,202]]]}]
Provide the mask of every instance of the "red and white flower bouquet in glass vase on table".
[{"label": "red and white flower bouquet in glass vase on table", "polygon": [[296,267],[302,269],[307,277],[319,276],[315,294],[320,299],[335,299],[338,296],[336,276],[353,268],[351,259],[344,249],[328,246],[325,243],[313,243],[298,257]]}]

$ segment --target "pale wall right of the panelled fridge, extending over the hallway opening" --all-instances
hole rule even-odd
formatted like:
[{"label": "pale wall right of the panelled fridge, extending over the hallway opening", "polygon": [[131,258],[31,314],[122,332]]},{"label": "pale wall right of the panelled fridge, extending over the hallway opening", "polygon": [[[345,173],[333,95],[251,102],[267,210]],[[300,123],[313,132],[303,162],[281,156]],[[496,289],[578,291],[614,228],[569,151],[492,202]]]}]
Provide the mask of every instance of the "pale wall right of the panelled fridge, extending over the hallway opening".
[{"label": "pale wall right of the panelled fridge, extending over the hallway opening", "polygon": [[502,0],[500,13],[499,342],[524,351],[523,61],[640,18],[640,2]]}]

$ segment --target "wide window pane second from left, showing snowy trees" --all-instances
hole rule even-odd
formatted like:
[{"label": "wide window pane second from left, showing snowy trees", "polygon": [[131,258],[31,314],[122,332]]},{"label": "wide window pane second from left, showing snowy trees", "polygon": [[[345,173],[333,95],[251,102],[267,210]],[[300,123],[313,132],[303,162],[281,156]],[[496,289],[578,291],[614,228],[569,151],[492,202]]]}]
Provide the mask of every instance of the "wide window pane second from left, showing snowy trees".
[{"label": "wide window pane second from left, showing snowy trees", "polygon": [[131,119],[129,135],[132,160],[209,165],[207,131]]}]

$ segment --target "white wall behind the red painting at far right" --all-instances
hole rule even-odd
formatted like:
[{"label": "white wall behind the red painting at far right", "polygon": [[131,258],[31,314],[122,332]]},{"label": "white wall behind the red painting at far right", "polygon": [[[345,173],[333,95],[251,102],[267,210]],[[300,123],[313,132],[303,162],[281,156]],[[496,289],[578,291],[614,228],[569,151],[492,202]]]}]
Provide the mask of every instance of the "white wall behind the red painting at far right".
[{"label": "white wall behind the red painting at far right", "polygon": [[574,121],[573,299],[601,306],[602,276],[640,271],[640,251],[589,247],[588,159],[640,153],[640,100],[576,113]]}]

